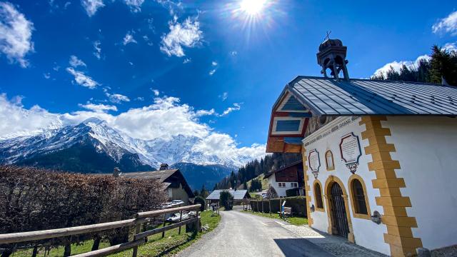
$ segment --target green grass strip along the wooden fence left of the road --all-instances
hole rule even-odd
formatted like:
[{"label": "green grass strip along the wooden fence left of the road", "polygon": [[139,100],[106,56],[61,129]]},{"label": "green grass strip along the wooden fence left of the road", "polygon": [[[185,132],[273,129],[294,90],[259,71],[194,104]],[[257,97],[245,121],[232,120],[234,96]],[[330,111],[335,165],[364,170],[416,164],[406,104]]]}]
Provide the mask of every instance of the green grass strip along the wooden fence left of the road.
[{"label": "green grass strip along the wooden fence left of the road", "polygon": [[[201,212],[201,225],[205,226],[206,224],[209,226],[209,229],[203,233],[199,233],[195,235],[194,233],[186,233],[186,226],[181,227],[181,235],[179,235],[179,228],[174,228],[169,231],[165,232],[165,237],[162,238],[162,233],[156,234],[154,236],[148,237],[148,242],[144,245],[139,246],[138,248],[138,256],[144,257],[151,257],[151,256],[171,256],[179,251],[183,250],[186,247],[191,246],[196,240],[198,240],[202,234],[208,233],[212,231],[219,225],[219,221],[221,221],[221,216],[219,215],[212,215],[213,211],[204,211]],[[71,245],[71,255],[78,254],[78,253],[86,253],[91,251],[93,241],[84,241],[79,243],[78,245],[72,244]],[[102,241],[100,243],[100,249],[108,247],[109,243]],[[11,256],[13,257],[26,257],[31,256],[32,249],[26,250],[19,250],[16,251]],[[132,250],[122,251],[121,253],[115,253],[111,256],[114,257],[124,257],[124,256],[131,256]],[[54,248],[49,252],[47,256],[63,256],[64,255],[64,247],[59,246],[58,248]],[[44,256],[44,250],[39,251],[37,256]]]}]

